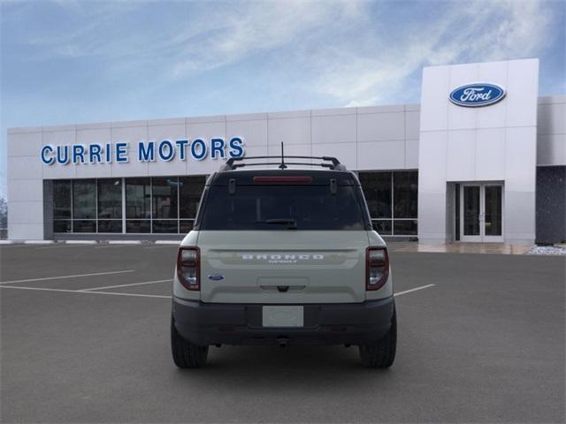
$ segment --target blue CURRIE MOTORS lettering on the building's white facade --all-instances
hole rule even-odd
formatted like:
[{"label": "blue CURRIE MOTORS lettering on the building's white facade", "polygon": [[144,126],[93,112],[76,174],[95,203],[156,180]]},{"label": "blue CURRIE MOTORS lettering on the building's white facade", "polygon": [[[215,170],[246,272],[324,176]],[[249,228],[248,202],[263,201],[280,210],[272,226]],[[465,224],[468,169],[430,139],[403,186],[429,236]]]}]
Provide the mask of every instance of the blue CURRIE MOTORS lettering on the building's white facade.
[{"label": "blue CURRIE MOTORS lettering on the building's white facade", "polygon": [[133,146],[127,141],[116,143],[89,143],[42,146],[40,157],[46,165],[66,165],[73,163],[128,163],[130,156],[138,162],[171,162],[176,159],[187,161],[202,161],[226,157],[241,157],[245,153],[242,137],[232,137],[230,140],[214,138],[210,140],[161,140],[139,141]]}]

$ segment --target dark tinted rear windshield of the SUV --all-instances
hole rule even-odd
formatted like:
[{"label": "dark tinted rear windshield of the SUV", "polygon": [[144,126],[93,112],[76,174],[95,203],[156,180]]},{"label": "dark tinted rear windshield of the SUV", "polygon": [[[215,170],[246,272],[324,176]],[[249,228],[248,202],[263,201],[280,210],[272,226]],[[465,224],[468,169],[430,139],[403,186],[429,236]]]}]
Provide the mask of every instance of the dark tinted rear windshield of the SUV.
[{"label": "dark tinted rear windshield of the SUV", "polygon": [[361,190],[338,186],[210,186],[200,230],[364,230]]}]

